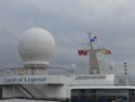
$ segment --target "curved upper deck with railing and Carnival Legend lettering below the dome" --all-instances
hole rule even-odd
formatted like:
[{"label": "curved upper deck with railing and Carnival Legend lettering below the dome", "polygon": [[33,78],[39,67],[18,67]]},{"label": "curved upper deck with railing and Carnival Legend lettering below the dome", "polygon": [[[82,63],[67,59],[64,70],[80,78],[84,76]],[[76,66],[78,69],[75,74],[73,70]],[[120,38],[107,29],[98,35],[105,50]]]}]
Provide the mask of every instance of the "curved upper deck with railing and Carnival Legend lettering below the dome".
[{"label": "curved upper deck with railing and Carnival Legend lettering below the dome", "polygon": [[0,85],[12,84],[71,84],[71,71],[60,67],[50,68],[6,68],[0,69]]}]

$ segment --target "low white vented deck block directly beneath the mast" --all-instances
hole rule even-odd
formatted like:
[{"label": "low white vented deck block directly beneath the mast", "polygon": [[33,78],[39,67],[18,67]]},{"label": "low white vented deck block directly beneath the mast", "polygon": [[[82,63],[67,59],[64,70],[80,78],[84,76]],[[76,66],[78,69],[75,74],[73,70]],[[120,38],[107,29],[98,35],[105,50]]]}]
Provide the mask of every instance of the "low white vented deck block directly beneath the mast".
[{"label": "low white vented deck block directly beneath the mast", "polygon": [[76,76],[76,86],[113,86],[114,75],[78,75]]}]

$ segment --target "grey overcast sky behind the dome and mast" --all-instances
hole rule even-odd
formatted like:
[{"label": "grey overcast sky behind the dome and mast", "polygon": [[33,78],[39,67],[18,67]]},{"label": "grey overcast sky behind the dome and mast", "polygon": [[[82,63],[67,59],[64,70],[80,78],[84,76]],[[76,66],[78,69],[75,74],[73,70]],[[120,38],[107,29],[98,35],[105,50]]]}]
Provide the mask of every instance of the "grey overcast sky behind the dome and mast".
[{"label": "grey overcast sky behind the dome and mast", "polygon": [[[105,62],[119,69],[127,62],[135,68],[135,0],[0,0],[0,68],[23,66],[17,41],[23,31],[32,27],[49,30],[56,41],[51,66],[86,72],[87,56],[78,56],[80,43],[89,41],[87,31],[97,36],[94,44],[111,50]],[[123,73],[123,72],[122,72]]]}]

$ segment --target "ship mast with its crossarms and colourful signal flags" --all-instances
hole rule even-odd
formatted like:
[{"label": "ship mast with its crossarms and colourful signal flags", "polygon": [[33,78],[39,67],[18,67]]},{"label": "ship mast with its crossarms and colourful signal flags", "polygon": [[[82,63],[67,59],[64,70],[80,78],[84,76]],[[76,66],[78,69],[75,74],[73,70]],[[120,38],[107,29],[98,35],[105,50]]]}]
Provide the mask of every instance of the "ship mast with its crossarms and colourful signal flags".
[{"label": "ship mast with its crossarms and colourful signal flags", "polygon": [[[96,56],[96,53],[97,52],[100,52],[100,51],[105,51],[106,53],[104,54],[111,54],[111,52],[105,48],[97,48],[95,49],[93,47],[93,42],[97,39],[97,37],[91,37],[92,33],[89,31],[86,33],[89,34],[89,43],[81,43],[81,44],[87,44],[87,47],[90,47],[87,50],[79,50],[79,55],[86,55],[89,53],[89,56],[90,56],[90,72],[89,74],[102,74],[102,69],[100,69],[100,66],[99,66],[99,63],[98,63],[98,59]],[[86,52],[86,53],[85,53]]]}]

